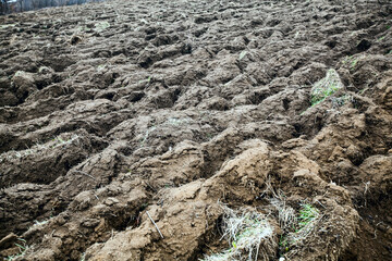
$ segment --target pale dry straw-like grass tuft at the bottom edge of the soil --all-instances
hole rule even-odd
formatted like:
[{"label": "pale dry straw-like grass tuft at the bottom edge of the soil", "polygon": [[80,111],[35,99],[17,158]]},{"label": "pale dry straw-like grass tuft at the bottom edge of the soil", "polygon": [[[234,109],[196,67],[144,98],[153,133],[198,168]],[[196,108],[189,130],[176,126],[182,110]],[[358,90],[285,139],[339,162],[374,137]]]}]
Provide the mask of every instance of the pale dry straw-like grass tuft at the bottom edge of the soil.
[{"label": "pale dry straw-like grass tuft at the bottom edge of the soil", "polygon": [[258,260],[258,257],[269,260],[275,252],[277,243],[267,216],[249,209],[235,211],[225,206],[222,208],[222,238],[226,238],[231,248],[207,256],[201,261]]}]

